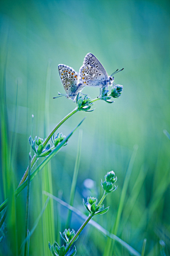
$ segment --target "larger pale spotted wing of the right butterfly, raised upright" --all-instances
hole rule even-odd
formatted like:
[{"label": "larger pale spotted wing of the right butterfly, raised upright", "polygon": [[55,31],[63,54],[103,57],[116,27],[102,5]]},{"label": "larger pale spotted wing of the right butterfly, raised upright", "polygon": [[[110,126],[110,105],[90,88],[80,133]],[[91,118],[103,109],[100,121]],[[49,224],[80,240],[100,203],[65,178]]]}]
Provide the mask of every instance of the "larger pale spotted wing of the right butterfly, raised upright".
[{"label": "larger pale spotted wing of the right butterfly, raised upright", "polygon": [[104,87],[108,82],[108,74],[103,65],[92,54],[87,53],[79,70],[79,82],[88,86]]}]

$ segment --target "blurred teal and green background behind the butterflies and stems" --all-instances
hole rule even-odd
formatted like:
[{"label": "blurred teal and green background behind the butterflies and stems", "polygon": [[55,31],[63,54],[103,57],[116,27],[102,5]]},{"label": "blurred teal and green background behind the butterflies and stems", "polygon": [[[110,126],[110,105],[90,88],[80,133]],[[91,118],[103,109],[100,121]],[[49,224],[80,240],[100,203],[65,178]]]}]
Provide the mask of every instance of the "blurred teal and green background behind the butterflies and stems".
[{"label": "blurred teal and green background behind the butterflies and stems", "polygon": [[[86,53],[93,53],[109,75],[125,68],[115,75],[123,94],[112,105],[95,102],[94,112],[79,112],[60,127],[59,132],[67,135],[86,117],[68,145],[30,183],[29,230],[47,198],[42,191],[69,203],[81,130],[74,207],[84,211],[82,198],[90,195],[84,186],[86,178],[96,183],[91,196],[97,193],[100,198],[101,178],[114,170],[118,190],[106,198],[110,210],[94,218],[112,232],[128,163],[137,145],[117,235],[140,253],[146,238],[145,255],[170,255],[170,142],[163,133],[164,129],[170,132],[169,1],[6,0],[0,5],[0,203],[8,196],[13,202],[13,189],[28,166],[31,115],[33,137],[45,138],[76,107],[65,97],[52,99],[58,91],[64,93],[57,65],[63,63],[78,72]],[[99,89],[86,87],[84,93],[94,98]],[[13,209],[8,210],[6,228],[0,233],[1,255],[23,255],[26,188]],[[30,255],[51,255],[48,242],[60,242],[67,212],[50,201],[30,238]],[[78,230],[81,223],[73,213],[70,228]],[[77,240],[77,255],[107,256],[107,242],[108,238],[87,225]],[[112,242],[110,255],[130,252]]]}]

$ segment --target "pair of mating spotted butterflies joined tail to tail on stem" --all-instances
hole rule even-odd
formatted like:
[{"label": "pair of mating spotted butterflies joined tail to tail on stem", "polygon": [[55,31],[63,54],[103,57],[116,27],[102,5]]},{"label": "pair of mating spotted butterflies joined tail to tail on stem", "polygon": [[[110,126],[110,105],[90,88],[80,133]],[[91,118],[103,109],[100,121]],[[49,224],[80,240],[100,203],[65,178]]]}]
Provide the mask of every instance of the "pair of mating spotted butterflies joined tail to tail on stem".
[{"label": "pair of mating spotted butterflies joined tail to tail on stem", "polygon": [[[84,58],[84,63],[79,69],[79,75],[73,68],[63,64],[58,65],[58,70],[62,85],[67,93],[66,95],[59,93],[59,97],[66,96],[75,101],[77,94],[81,92],[85,86],[98,86],[103,88],[108,85],[113,85],[113,75],[123,69],[119,71],[116,70],[111,76],[108,76],[98,59],[92,53],[87,53]],[[55,98],[56,97],[54,97],[54,99]]]}]

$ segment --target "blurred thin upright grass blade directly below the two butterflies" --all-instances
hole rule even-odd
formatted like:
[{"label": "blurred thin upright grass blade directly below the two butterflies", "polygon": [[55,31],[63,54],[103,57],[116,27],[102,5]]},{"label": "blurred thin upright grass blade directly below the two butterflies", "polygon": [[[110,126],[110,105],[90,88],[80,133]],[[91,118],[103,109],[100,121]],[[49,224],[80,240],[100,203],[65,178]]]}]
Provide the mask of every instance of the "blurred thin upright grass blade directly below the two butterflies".
[{"label": "blurred thin upright grass blade directly below the two butterflies", "polygon": [[[74,174],[73,174],[73,179],[72,179],[72,188],[71,188],[70,198],[69,198],[69,205],[70,206],[73,206],[73,203],[74,203],[74,196],[75,196],[76,185],[77,185],[77,176],[78,176],[78,173],[79,173],[79,162],[80,162],[80,155],[81,155],[82,136],[83,136],[83,131],[79,130],[77,159],[76,159],[76,163],[75,163],[75,166],[74,166]],[[69,228],[71,218],[72,218],[72,211],[69,210],[68,215],[67,215],[66,228]]]}]

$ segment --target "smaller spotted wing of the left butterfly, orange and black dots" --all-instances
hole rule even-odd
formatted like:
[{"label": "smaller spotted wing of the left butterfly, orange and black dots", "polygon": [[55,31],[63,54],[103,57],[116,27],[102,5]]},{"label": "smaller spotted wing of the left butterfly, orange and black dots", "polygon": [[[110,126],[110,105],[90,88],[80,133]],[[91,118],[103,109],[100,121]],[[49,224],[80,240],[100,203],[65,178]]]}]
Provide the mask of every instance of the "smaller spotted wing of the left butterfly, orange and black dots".
[{"label": "smaller spotted wing of the left butterfly, orange and black dots", "polygon": [[58,70],[60,73],[62,85],[64,86],[64,90],[66,91],[67,96],[75,96],[78,89],[77,72],[73,68],[63,64],[58,65]]}]

